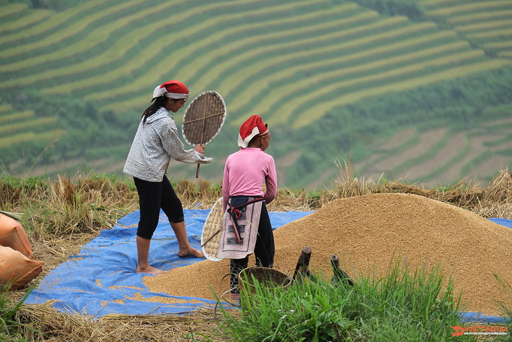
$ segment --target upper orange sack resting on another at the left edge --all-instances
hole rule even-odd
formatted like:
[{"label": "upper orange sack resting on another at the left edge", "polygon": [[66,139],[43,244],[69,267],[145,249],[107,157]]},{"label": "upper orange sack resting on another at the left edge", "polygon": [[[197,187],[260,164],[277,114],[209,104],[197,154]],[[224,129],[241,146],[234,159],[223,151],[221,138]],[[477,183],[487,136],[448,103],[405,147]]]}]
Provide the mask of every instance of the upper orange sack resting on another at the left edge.
[{"label": "upper orange sack resting on another at the left edge", "polygon": [[0,214],[0,246],[10,247],[31,258],[33,256],[29,238],[23,226],[14,218]]}]

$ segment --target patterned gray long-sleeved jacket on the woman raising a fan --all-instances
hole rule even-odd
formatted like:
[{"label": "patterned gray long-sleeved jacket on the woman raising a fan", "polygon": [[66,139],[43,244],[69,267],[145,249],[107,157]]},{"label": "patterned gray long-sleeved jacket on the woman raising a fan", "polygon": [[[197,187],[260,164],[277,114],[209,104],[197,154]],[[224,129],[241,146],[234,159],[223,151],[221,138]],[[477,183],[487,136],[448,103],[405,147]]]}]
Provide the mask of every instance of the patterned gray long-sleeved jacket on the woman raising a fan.
[{"label": "patterned gray long-sleeved jacket on the woman raising a fan", "polygon": [[190,164],[212,160],[194,149],[185,150],[173,117],[161,107],[145,123],[140,120],[123,172],[147,182],[162,182],[170,158]]}]

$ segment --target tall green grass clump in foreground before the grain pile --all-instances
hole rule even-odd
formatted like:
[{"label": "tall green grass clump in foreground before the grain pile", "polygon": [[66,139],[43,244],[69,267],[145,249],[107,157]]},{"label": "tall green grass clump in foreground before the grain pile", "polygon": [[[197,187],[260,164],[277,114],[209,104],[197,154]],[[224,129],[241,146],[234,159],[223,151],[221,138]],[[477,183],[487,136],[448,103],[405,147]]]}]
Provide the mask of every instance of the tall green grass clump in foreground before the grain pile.
[{"label": "tall green grass clump in foreground before the grain pile", "polygon": [[326,279],[285,288],[251,283],[251,295],[241,294],[241,319],[222,309],[235,341],[444,341],[454,338],[451,327],[476,325],[459,320],[460,293],[438,268],[410,272],[396,262],[387,276],[361,275],[354,287]]}]

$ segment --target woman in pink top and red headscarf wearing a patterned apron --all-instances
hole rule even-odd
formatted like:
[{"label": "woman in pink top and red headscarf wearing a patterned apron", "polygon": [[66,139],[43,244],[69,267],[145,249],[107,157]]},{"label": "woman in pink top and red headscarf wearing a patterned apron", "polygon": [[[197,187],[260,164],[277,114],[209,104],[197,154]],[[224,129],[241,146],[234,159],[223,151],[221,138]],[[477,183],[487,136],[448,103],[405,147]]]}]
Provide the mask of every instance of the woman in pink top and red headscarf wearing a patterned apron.
[{"label": "woman in pink top and red headscarf wearing a patterned apron", "polygon": [[[258,266],[272,268],[274,235],[266,205],[277,189],[268,125],[252,115],[239,131],[240,150],[228,156],[222,181],[224,218],[217,257],[230,258],[231,298],[239,299],[237,274],[254,252]],[[263,192],[263,183],[266,191]]]}]

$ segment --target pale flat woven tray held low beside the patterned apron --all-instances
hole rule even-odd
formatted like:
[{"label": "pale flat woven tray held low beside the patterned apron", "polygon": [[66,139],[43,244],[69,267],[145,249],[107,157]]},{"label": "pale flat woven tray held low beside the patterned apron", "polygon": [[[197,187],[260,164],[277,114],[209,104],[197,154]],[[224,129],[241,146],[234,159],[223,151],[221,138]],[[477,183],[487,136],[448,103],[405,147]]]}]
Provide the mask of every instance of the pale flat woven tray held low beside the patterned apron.
[{"label": "pale flat woven tray held low beside the patterned apron", "polygon": [[204,223],[203,232],[201,233],[201,249],[204,256],[211,261],[220,261],[217,257],[219,251],[219,242],[221,238],[222,217],[222,197],[211,208],[206,221]]}]

